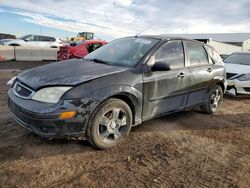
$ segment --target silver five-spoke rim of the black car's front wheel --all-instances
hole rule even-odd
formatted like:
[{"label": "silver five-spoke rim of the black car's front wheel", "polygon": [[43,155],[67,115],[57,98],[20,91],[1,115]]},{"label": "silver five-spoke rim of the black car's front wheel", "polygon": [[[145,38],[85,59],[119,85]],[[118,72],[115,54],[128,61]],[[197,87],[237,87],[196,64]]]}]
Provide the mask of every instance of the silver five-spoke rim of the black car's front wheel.
[{"label": "silver five-spoke rim of the black car's front wheel", "polygon": [[122,109],[113,108],[102,115],[99,135],[105,142],[116,142],[125,133],[126,125],[126,113]]}]

